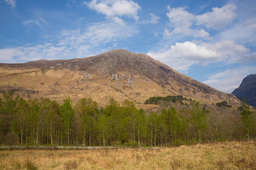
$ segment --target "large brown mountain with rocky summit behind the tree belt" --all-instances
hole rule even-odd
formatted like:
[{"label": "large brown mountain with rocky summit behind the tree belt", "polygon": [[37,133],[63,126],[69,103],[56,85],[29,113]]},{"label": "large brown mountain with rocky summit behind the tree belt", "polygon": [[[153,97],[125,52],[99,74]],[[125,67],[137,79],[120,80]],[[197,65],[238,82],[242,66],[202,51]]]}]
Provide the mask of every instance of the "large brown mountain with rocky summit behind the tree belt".
[{"label": "large brown mountain with rocky summit behind the tree belt", "polygon": [[24,98],[49,97],[73,102],[91,97],[100,105],[109,98],[144,103],[151,96],[183,95],[201,103],[228,101],[238,104],[232,94],[218,91],[181,74],[142,53],[110,50],[94,57],[0,63],[0,87]]}]

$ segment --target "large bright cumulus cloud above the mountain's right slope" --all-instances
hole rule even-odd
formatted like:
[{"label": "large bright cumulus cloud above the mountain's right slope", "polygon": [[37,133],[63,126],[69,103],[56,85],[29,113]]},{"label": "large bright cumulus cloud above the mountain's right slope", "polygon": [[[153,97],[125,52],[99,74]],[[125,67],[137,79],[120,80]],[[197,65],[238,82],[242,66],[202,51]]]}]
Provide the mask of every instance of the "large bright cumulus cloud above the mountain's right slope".
[{"label": "large bright cumulus cloud above the mountain's right slope", "polygon": [[245,46],[237,45],[234,41],[222,41],[215,44],[195,44],[186,41],[176,42],[169,49],[160,52],[150,52],[148,56],[166,63],[178,71],[187,71],[195,64],[207,66],[209,63],[224,63],[226,65],[241,62],[245,56],[253,58]]}]

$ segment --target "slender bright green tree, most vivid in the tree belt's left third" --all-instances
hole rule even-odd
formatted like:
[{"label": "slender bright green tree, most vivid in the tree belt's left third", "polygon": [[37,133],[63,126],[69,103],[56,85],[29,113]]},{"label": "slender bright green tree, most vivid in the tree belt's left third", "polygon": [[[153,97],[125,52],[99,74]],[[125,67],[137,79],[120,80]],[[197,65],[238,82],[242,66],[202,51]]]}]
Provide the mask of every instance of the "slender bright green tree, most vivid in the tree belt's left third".
[{"label": "slender bright green tree, most vivid in the tree belt's left third", "polygon": [[69,132],[71,129],[71,121],[73,117],[74,111],[72,108],[72,100],[70,97],[68,99],[63,100],[63,105],[61,105],[61,116],[63,118],[65,128],[67,129],[68,133],[68,145],[69,145]]}]

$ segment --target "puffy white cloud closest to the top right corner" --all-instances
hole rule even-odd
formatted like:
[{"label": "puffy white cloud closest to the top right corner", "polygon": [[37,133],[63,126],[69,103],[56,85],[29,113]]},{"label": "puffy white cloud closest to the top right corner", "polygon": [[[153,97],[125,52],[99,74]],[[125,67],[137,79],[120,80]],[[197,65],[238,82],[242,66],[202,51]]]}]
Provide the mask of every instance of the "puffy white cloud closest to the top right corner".
[{"label": "puffy white cloud closest to the top right corner", "polygon": [[213,7],[212,12],[196,16],[197,25],[205,25],[207,28],[221,29],[237,17],[236,5],[230,3],[224,7]]}]

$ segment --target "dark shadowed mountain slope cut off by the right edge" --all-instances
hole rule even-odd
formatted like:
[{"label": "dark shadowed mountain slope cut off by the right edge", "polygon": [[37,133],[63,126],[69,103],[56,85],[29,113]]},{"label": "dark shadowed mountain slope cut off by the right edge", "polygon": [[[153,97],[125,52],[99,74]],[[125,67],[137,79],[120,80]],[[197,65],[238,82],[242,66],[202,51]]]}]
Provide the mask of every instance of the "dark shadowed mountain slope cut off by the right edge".
[{"label": "dark shadowed mountain slope cut off by the right edge", "polygon": [[256,107],[256,74],[246,76],[232,94],[241,101],[245,98],[246,104]]}]

